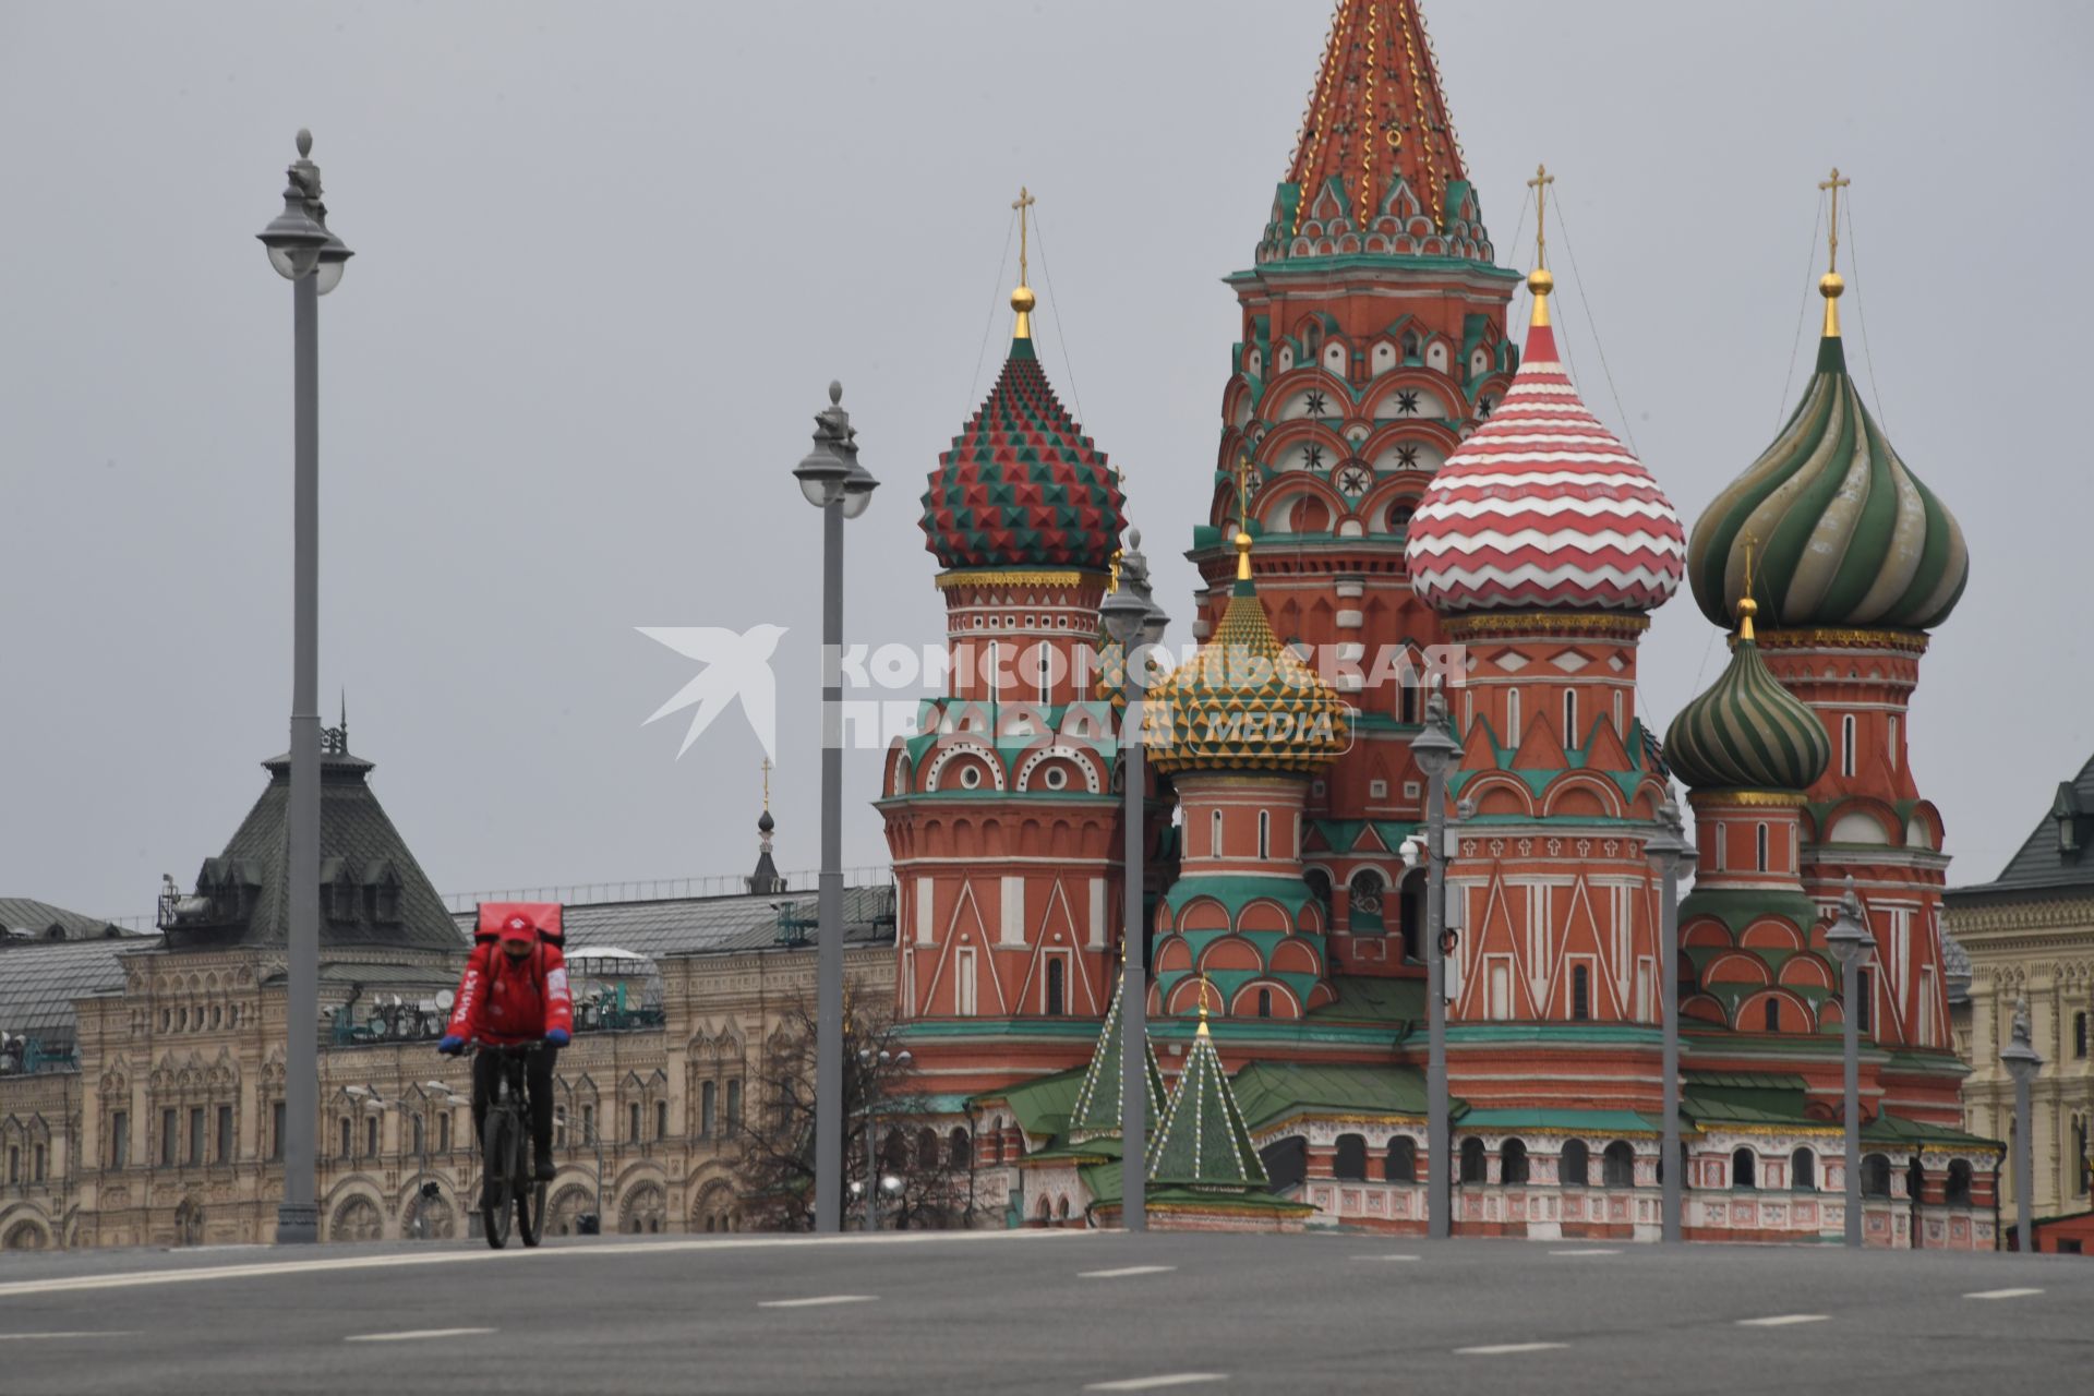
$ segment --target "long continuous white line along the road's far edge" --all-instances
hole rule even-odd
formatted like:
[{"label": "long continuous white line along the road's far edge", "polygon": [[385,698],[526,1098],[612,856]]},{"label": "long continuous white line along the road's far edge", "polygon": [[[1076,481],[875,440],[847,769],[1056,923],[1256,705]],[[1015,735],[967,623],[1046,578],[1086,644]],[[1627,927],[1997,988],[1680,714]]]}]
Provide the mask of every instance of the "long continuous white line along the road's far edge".
[{"label": "long continuous white line along the road's far edge", "polygon": [[[1051,1226],[1022,1229],[1022,1231],[884,1231],[873,1235],[850,1233],[840,1237],[735,1237],[735,1239],[714,1239],[714,1241],[628,1241],[628,1243],[599,1243],[599,1245],[561,1245],[561,1262],[580,1260],[630,1260],[662,1256],[670,1252],[725,1252],[725,1249],[754,1249],[758,1245],[980,1245],[980,1243],[1020,1243],[1039,1245],[1045,1241],[1078,1241],[1083,1237],[1101,1235],[1097,1231],[1062,1231]],[[513,1249],[454,1249],[454,1252],[429,1252],[425,1256],[404,1256],[398,1252],[373,1254],[373,1256],[331,1256],[327,1260],[274,1260],[264,1264],[220,1264],[220,1266],[184,1266],[168,1270],[126,1270],[119,1275],[71,1275],[71,1277],[50,1277],[50,1279],[21,1279],[0,1283],[0,1300],[29,1298],[46,1293],[67,1293],[75,1289],[136,1289],[138,1285],[186,1285],[207,1279],[264,1279],[272,1275],[320,1275],[329,1270],[392,1270],[396,1266],[410,1264],[480,1264],[480,1262],[503,1262],[503,1264],[530,1264],[534,1252],[513,1252]],[[544,1254],[544,1252],[538,1252]]]}]

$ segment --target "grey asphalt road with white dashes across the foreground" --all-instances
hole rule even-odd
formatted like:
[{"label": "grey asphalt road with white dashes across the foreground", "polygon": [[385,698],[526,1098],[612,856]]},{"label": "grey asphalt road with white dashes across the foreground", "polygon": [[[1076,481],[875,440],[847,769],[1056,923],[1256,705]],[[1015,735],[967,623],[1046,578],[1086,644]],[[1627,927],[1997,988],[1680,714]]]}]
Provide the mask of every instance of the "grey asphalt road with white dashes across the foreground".
[{"label": "grey asphalt road with white dashes across the foreground", "polygon": [[2090,1383],[2069,1256],[978,1233],[0,1258],[0,1396]]}]

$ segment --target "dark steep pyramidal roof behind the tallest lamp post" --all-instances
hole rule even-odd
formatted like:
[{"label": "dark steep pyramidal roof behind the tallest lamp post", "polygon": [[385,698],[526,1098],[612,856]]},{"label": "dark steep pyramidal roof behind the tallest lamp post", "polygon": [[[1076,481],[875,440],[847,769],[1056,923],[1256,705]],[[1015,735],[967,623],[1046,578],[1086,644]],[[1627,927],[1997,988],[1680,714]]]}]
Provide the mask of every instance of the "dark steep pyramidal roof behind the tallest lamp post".
[{"label": "dark steep pyramidal roof behind the tallest lamp post", "polygon": [[[168,925],[168,948],[283,946],[289,942],[291,758],[262,762],[268,785],[218,858],[197,873],[207,902]],[[348,751],[320,758],[320,944],[459,950],[465,938],[429,877],[373,793],[371,762]],[[392,913],[381,906],[396,902]]]}]

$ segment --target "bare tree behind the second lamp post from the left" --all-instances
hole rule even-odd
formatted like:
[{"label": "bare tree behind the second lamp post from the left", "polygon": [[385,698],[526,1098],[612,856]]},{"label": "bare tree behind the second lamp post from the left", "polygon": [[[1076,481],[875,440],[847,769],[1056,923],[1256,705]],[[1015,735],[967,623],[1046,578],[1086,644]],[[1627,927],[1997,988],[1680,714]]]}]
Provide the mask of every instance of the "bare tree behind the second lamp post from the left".
[{"label": "bare tree behind the second lamp post from the left", "polygon": [[[867,1157],[873,1130],[886,1229],[963,1226],[970,1199],[972,1141],[955,1141],[955,1122],[934,1118],[894,1011],[882,994],[850,986],[844,994],[844,1187],[846,1224],[863,1224]],[[760,1231],[815,1229],[815,1003],[800,994],[760,1046],[760,1099],[750,1103],[729,1141],[743,1216]],[[886,1061],[879,1055],[886,1053]],[[871,1111],[867,1111],[871,1105]],[[879,1178],[873,1178],[879,1185]]]}]

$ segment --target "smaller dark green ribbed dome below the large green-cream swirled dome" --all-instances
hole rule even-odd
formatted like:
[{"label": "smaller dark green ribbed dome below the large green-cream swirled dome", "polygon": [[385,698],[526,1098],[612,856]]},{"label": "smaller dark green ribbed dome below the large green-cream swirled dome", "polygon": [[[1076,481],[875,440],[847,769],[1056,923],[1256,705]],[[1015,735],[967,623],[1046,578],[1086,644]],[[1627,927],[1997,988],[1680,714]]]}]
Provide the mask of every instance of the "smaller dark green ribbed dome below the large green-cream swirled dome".
[{"label": "smaller dark green ribbed dome below the large green-cream swirled dome", "polygon": [[1824,722],[1759,657],[1757,609],[1751,599],[1738,603],[1730,668],[1665,733],[1665,764],[1692,791],[1801,793],[1832,760]]}]

